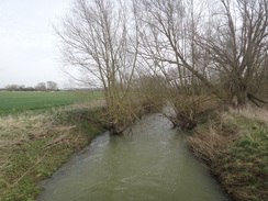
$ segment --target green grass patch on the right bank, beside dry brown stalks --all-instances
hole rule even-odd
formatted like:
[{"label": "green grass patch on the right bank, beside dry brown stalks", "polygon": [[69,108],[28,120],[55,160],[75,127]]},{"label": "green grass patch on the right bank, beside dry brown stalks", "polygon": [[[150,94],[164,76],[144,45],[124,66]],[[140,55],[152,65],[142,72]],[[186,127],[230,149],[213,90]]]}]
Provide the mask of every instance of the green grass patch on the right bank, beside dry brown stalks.
[{"label": "green grass patch on the right bank, beside dry brown stalks", "polygon": [[[268,124],[233,115],[241,138],[223,158],[222,174],[228,177],[230,192],[243,200],[267,200],[268,193]],[[238,183],[238,185],[237,185]]]}]

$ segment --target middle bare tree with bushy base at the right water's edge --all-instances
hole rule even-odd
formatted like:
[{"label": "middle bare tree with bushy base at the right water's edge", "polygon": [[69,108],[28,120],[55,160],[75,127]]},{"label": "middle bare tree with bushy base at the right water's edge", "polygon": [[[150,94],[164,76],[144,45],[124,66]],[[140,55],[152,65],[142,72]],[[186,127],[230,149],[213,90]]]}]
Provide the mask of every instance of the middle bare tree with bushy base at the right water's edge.
[{"label": "middle bare tree with bushy base at the right water's edge", "polygon": [[202,49],[196,45],[202,12],[193,11],[193,1],[143,0],[136,7],[142,26],[141,65],[147,74],[158,77],[159,91],[174,109],[175,114],[163,110],[164,114],[176,125],[192,129],[203,112],[201,103],[206,99],[198,94],[200,82],[223,99],[210,81],[205,63],[200,56]]}]

